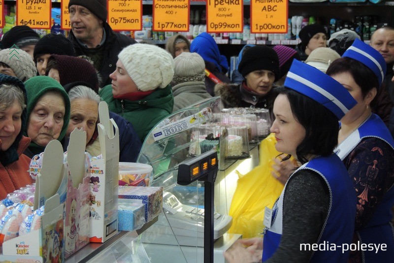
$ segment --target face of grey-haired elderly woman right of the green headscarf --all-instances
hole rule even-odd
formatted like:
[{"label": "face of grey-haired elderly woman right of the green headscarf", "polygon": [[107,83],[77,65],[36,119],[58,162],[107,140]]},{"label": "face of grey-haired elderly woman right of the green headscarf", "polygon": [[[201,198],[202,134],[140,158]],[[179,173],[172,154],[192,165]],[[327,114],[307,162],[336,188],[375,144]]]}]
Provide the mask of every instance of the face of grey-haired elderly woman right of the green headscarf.
[{"label": "face of grey-haired elderly woman right of the green headscarf", "polygon": [[95,132],[98,117],[99,104],[96,101],[85,98],[72,100],[66,136],[69,137],[75,128],[82,128],[86,132],[86,143],[88,143]]}]

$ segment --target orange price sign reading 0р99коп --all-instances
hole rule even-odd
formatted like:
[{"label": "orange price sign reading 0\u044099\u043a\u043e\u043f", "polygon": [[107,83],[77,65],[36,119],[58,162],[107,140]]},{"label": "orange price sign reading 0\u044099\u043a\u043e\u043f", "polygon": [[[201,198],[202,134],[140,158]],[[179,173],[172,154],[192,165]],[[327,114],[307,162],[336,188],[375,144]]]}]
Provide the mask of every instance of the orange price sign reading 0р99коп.
[{"label": "orange price sign reading 0\u044099\u043a\u043e\u043f", "polygon": [[207,0],[206,31],[208,33],[242,32],[243,0]]}]

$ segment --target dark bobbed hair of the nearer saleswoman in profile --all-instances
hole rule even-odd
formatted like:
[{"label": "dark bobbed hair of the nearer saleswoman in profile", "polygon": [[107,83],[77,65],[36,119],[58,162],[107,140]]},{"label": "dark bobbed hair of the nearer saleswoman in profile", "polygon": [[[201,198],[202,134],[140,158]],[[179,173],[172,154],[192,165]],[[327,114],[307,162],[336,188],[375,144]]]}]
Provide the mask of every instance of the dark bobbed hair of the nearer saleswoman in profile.
[{"label": "dark bobbed hair of the nearer saleswoman in profile", "polygon": [[[328,156],[338,144],[339,123],[336,116],[319,102],[286,87],[276,88],[286,95],[293,115],[305,129],[305,137],[296,148],[301,164],[308,162],[308,155]],[[290,155],[284,158],[287,160]]]}]

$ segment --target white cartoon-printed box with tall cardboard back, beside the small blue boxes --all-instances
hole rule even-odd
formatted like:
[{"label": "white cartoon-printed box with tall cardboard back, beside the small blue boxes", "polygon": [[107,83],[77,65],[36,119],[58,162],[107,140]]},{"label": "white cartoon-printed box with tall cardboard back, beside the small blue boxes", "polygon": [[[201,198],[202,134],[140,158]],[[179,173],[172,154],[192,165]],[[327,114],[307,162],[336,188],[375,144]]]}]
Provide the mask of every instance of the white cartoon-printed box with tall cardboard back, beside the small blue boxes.
[{"label": "white cartoon-printed box with tall cardboard back, beside the small blue boxes", "polygon": [[118,232],[119,130],[105,101],[99,104],[99,118],[102,158],[90,165],[89,206],[90,242],[102,243]]}]

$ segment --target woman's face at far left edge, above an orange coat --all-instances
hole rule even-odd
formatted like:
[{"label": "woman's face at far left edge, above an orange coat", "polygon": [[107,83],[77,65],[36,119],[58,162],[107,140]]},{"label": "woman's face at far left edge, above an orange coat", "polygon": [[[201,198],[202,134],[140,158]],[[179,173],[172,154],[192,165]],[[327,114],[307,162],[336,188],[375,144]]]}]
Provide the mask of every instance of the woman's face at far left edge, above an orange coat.
[{"label": "woman's face at far left edge, above an orange coat", "polygon": [[22,108],[15,100],[12,106],[0,110],[1,151],[6,151],[14,143],[22,127]]}]

